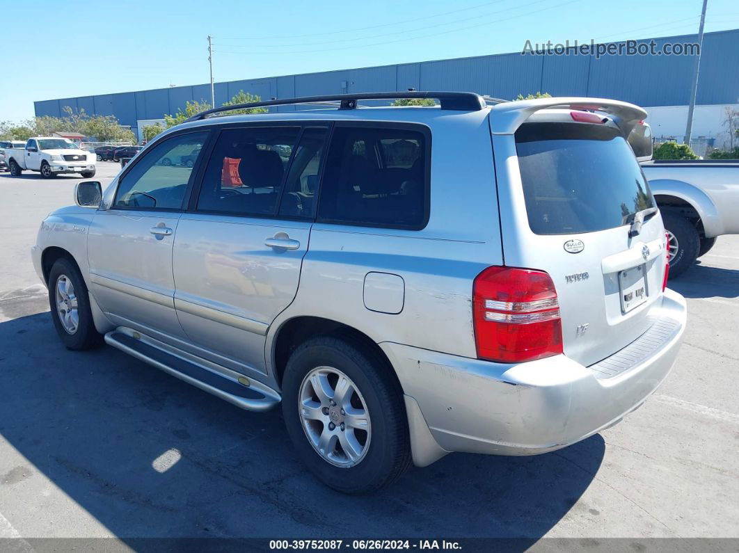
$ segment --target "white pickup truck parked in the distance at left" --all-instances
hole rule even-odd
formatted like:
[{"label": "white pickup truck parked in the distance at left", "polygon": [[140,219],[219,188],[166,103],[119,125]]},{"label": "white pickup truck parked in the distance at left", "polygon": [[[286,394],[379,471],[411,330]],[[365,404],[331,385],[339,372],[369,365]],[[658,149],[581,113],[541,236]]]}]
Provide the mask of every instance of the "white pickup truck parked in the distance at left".
[{"label": "white pickup truck parked in the distance at left", "polygon": [[64,173],[86,179],[95,175],[95,154],[64,138],[33,137],[25,148],[5,148],[5,157],[13,176],[24,170],[39,171],[45,179]]}]

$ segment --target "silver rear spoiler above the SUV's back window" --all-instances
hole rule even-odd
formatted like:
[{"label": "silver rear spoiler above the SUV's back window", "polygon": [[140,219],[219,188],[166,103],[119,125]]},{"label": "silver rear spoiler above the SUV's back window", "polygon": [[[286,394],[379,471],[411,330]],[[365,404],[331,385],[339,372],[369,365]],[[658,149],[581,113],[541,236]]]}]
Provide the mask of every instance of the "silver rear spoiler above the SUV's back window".
[{"label": "silver rear spoiler above the SUV's back window", "polygon": [[493,134],[514,134],[531,115],[542,109],[552,108],[605,113],[621,128],[624,137],[628,137],[634,126],[647,118],[647,111],[644,109],[619,100],[586,97],[537,98],[492,106],[490,128]]}]

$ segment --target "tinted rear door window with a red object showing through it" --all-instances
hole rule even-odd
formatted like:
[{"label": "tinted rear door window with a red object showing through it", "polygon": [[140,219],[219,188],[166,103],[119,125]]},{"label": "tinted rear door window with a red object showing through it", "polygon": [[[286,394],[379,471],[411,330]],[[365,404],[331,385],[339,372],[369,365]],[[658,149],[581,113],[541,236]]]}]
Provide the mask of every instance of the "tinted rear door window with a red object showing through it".
[{"label": "tinted rear door window with a red object showing through it", "polygon": [[197,209],[239,215],[274,215],[297,127],[222,131],[202,178]]}]

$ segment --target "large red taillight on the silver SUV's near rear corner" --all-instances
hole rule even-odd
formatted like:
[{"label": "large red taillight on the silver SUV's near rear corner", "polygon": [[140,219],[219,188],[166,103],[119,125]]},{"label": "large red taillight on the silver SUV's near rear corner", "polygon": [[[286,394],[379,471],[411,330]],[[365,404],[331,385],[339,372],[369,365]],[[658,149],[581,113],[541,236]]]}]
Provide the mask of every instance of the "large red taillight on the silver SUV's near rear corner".
[{"label": "large red taillight on the silver SUV's near rear corner", "polygon": [[546,272],[488,267],[474,279],[473,299],[480,359],[520,363],[562,353],[559,302]]}]

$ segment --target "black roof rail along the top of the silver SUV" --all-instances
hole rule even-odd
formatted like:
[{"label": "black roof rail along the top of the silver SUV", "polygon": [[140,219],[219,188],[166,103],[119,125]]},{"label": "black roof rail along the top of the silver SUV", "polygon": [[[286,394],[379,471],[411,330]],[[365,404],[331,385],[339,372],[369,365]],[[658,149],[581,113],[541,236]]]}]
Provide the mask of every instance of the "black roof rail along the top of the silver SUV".
[{"label": "black roof rail along the top of the silver SUV", "polygon": [[290,106],[295,104],[315,104],[324,102],[339,102],[338,109],[355,109],[359,100],[398,100],[401,98],[432,98],[439,100],[441,109],[452,109],[455,111],[479,111],[486,107],[486,101],[483,100],[483,97],[474,92],[361,92],[359,94],[304,96],[298,98],[285,98],[282,100],[238,103],[233,106],[221,106],[219,108],[201,111],[199,114],[186,119],[185,123],[188,123],[189,121],[199,121],[205,119],[209,115],[221,113],[222,111],[234,111],[236,109]]}]

